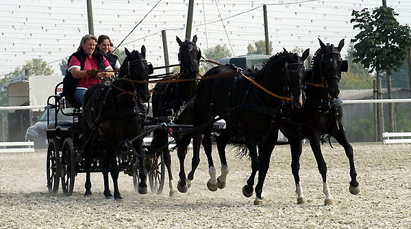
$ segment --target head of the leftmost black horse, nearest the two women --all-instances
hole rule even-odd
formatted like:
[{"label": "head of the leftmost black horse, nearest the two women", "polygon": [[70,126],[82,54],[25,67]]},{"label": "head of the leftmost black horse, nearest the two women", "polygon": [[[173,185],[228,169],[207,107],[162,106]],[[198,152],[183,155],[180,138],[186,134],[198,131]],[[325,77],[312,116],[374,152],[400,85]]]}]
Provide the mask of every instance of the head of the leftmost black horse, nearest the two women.
[{"label": "head of the leftmost black horse, nearest the two women", "polygon": [[123,66],[125,68],[120,69],[119,77],[125,77],[133,81],[147,81],[147,83],[133,83],[134,91],[138,98],[138,103],[147,103],[150,99],[149,91],[149,75],[153,73],[153,66],[147,63],[145,59],[146,49],[145,46],[141,46],[141,53],[133,50],[131,53],[125,49],[125,57]]}]

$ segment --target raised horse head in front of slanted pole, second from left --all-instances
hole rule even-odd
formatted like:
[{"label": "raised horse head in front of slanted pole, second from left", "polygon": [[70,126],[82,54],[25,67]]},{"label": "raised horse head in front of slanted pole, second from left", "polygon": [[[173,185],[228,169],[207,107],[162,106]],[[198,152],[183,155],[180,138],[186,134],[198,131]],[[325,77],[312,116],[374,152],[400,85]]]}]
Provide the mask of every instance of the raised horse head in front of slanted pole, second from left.
[{"label": "raised horse head in front of slanted pole, second from left", "polygon": [[176,40],[180,46],[178,53],[180,72],[188,78],[196,78],[199,73],[201,58],[201,50],[195,44],[197,42],[197,35],[192,38],[192,41],[185,40],[182,42],[177,36]]}]

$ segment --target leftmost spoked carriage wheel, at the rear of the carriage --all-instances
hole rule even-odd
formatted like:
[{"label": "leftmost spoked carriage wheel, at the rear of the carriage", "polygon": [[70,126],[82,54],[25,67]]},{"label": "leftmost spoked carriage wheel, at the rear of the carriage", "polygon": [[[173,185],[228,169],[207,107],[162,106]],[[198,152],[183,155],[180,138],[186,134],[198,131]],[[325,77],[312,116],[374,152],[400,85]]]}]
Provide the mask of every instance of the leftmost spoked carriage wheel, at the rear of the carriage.
[{"label": "leftmost spoked carriage wheel, at the rear of the carriage", "polygon": [[46,174],[49,193],[56,193],[58,191],[61,166],[58,143],[57,140],[53,138],[50,140],[49,147],[47,148]]}]

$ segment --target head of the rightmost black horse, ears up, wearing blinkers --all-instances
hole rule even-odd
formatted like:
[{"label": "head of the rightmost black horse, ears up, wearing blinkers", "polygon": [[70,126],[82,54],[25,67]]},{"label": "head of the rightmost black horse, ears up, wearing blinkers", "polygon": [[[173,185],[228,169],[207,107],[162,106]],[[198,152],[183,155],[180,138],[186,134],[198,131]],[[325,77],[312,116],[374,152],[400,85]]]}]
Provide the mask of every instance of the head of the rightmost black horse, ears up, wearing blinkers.
[{"label": "head of the rightmost black horse, ears up, wearing blinkers", "polygon": [[[338,84],[341,79],[341,72],[347,72],[348,62],[343,60],[340,55],[344,46],[344,39],[340,40],[338,47],[334,44],[324,44],[319,38],[321,50],[319,57],[314,59],[314,73],[319,74],[321,83],[328,89],[328,96],[338,98],[340,90]],[[321,58],[321,59],[319,59]]]}]

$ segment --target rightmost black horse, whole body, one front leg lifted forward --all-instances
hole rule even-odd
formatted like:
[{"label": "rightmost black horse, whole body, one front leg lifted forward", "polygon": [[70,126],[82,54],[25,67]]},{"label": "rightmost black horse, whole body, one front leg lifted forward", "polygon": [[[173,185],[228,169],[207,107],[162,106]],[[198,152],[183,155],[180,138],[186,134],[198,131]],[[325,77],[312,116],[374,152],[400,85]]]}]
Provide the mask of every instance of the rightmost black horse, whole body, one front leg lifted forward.
[{"label": "rightmost black horse, whole body, one front leg lifted forward", "polygon": [[[301,140],[310,140],[310,146],[319,172],[323,178],[323,193],[325,204],[334,204],[334,199],[327,184],[327,165],[321,154],[321,135],[328,134],[334,137],[344,147],[349,159],[351,182],[349,191],[352,194],[360,192],[356,180],[357,173],[353,161],[353,148],[345,137],[345,129],[341,122],[343,118],[342,100],[338,98],[338,82],[341,72],[347,71],[347,61],[341,59],[340,51],[344,46],[341,40],[338,47],[333,44],[325,45],[319,40],[321,48],[314,55],[312,70],[307,73],[306,105],[303,109],[290,109],[287,118],[284,118],[280,130],[290,142],[292,154],[292,175],[294,176],[297,203],[306,202],[299,179],[299,157],[301,156]],[[326,138],[327,139],[327,138]],[[324,140],[324,139],[323,139]]]}]

